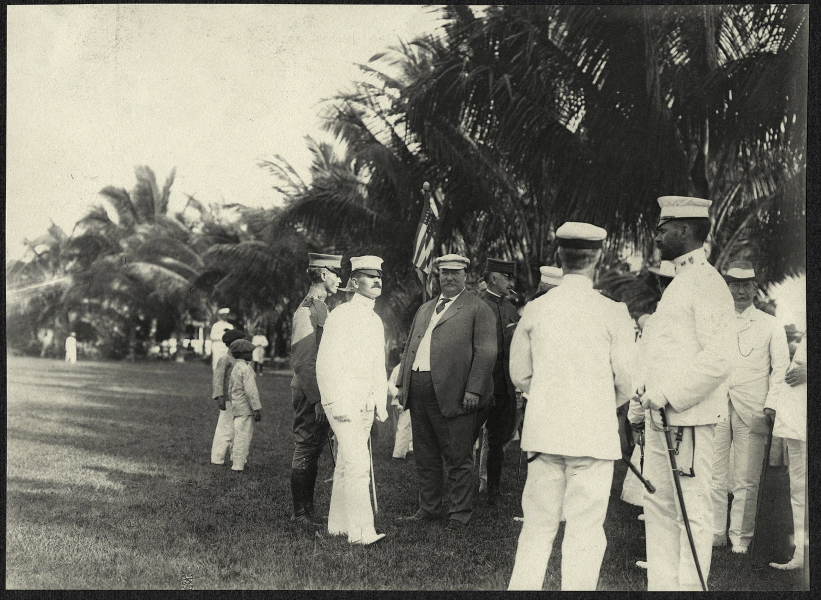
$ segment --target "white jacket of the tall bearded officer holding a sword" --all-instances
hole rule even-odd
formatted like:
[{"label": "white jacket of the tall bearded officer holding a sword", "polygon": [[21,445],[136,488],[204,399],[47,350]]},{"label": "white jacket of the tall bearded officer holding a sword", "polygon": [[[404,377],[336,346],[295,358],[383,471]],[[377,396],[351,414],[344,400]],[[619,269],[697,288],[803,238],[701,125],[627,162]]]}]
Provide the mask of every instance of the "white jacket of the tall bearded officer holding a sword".
[{"label": "white jacket of the tall bearded officer holding a sword", "polygon": [[727,419],[727,377],[735,366],[735,305],[704,250],[673,261],[672,280],[654,313],[654,341],[645,387],[670,403],[670,425]]}]

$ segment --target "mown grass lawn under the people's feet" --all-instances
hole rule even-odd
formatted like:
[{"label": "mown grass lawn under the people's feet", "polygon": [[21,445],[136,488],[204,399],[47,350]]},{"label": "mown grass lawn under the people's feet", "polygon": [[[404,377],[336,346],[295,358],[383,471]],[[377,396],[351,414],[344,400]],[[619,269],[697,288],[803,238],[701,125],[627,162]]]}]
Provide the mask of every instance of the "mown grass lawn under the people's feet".
[{"label": "mown grass lawn under the people's feet", "polygon": [[[236,474],[210,465],[217,408],[209,365],[90,363],[8,359],[6,583],[13,589],[505,589],[521,524],[519,489],[510,508],[484,497],[466,533],[443,523],[402,526],[416,508],[412,460],[391,459],[391,423],[374,438],[377,530],[388,539],[351,547],[345,538],[306,534],[291,510],[290,377],[258,379],[263,421],[249,467]],[[518,447],[507,451],[502,488],[516,482]],[[608,551],[599,589],[643,590],[644,525],[618,499],[617,465]],[[771,469],[761,533],[763,555],[784,558],[791,530],[787,474]],[[320,460],[317,505],[328,511],[333,473]],[[559,589],[554,544],[545,589]],[[714,590],[804,589],[782,572],[713,552]]]}]

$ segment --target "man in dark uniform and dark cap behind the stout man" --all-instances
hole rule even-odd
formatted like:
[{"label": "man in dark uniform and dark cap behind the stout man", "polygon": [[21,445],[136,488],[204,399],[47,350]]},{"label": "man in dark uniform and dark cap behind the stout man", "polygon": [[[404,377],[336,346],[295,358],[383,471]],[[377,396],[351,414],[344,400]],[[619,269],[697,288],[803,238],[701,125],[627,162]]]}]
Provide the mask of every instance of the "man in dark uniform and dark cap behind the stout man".
[{"label": "man in dark uniform and dark cap behind the stout man", "polygon": [[[516,386],[511,382],[508,369],[511,339],[519,314],[506,296],[516,282],[516,263],[488,259],[484,270],[488,289],[481,296],[493,311],[496,321],[496,364],[493,365],[493,405],[479,416],[486,420],[488,430],[488,506],[504,506],[499,497],[499,480],[502,479],[502,447],[516,431]],[[481,425],[481,423],[479,423]]]}]

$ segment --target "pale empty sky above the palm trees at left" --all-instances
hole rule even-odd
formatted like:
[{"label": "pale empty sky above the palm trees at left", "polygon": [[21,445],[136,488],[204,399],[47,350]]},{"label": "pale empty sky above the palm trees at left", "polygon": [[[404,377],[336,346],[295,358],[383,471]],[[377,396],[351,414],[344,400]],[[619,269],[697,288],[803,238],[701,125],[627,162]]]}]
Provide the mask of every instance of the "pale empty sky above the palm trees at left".
[{"label": "pale empty sky above the palm trees at left", "polygon": [[7,17],[7,259],[53,220],[67,232],[135,165],[170,212],[271,206],[280,154],[304,173],[305,135],[356,63],[433,31],[420,5],[13,6]]}]

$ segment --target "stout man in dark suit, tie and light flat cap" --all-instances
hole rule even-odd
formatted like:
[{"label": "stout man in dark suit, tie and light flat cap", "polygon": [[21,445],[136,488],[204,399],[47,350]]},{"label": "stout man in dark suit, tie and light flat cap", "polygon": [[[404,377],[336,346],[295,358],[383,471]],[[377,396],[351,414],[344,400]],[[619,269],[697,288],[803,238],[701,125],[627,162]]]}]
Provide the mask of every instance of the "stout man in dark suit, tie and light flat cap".
[{"label": "stout man in dark suit, tie and light flat cap", "polygon": [[468,259],[447,254],[436,264],[442,293],[416,311],[397,377],[402,408],[413,411],[420,486],[419,511],[399,520],[443,516],[447,469],[447,530],[458,532],[473,512],[473,443],[479,415],[493,403],[496,319],[488,305],[465,291]]}]

